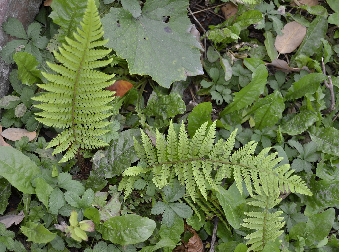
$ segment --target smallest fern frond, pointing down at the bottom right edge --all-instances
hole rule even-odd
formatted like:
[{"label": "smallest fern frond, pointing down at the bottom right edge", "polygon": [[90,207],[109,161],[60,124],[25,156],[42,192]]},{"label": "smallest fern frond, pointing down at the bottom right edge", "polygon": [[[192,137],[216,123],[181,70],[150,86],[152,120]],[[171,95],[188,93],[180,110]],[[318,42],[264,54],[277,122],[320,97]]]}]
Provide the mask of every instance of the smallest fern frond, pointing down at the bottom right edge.
[{"label": "smallest fern frond, pointing down at the bottom right edge", "polygon": [[272,209],[281,202],[281,198],[278,199],[280,193],[278,192],[273,196],[266,196],[263,191],[261,191],[260,194],[253,195],[255,200],[247,202],[247,204],[261,207],[263,211],[245,212],[249,218],[243,219],[244,223],[240,223],[243,227],[256,230],[245,236],[245,239],[248,239],[246,245],[252,244],[250,248],[247,249],[247,252],[261,251],[268,241],[274,241],[282,234],[283,231],[280,229],[283,228],[285,224],[285,222],[282,222],[283,217],[279,217],[283,211],[268,213],[269,209]]}]

